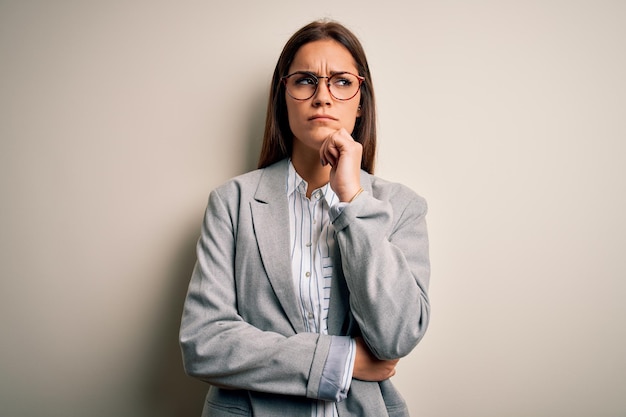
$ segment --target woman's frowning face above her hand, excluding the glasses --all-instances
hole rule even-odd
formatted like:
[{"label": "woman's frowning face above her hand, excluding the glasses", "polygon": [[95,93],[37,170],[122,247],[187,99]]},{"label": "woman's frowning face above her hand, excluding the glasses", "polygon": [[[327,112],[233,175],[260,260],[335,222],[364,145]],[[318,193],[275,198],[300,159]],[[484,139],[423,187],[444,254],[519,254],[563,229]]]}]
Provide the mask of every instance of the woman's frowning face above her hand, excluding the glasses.
[{"label": "woman's frowning face above her hand, excluding the glasses", "polygon": [[[335,40],[303,45],[289,67],[289,74],[296,71],[312,72],[317,76],[344,71],[358,74],[350,52]],[[294,135],[294,152],[304,149],[319,151],[324,140],[342,127],[352,133],[356,118],[361,115],[361,91],[350,100],[337,100],[330,94],[326,78],[319,80],[313,97],[300,101],[285,93],[285,100],[289,127]]]}]

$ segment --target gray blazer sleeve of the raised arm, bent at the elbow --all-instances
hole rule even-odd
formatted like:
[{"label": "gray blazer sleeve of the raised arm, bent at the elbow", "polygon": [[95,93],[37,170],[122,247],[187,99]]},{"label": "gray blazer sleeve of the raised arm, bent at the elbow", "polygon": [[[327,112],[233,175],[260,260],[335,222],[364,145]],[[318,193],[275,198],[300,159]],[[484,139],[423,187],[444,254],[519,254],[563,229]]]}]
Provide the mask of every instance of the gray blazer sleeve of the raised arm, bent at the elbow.
[{"label": "gray blazer sleeve of the raised arm, bent at the elbow", "polygon": [[404,186],[382,189],[361,193],[333,225],[363,338],[378,358],[395,359],[410,353],[428,327],[427,205]]}]

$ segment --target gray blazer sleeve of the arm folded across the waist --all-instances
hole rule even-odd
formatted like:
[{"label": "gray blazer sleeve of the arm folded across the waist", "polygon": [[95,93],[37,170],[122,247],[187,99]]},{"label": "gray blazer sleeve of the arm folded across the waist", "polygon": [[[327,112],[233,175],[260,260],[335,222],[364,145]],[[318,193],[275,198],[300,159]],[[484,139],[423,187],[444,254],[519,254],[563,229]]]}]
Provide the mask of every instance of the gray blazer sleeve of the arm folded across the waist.
[{"label": "gray blazer sleeve of the arm folded across the waist", "polygon": [[218,387],[318,398],[332,337],[263,331],[243,320],[235,279],[238,203],[224,194],[209,197],[183,308],[185,371]]}]

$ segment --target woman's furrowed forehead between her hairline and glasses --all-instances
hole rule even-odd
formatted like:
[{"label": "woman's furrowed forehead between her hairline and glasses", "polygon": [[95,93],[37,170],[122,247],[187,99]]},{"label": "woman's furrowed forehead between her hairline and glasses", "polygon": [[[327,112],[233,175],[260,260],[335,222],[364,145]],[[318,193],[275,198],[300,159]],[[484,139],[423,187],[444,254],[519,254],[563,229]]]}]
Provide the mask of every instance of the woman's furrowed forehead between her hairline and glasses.
[{"label": "woman's furrowed forehead between her hairline and glasses", "polygon": [[[356,63],[350,51],[333,39],[306,43],[298,49],[290,70],[355,71]],[[322,71],[322,72],[324,72]]]}]

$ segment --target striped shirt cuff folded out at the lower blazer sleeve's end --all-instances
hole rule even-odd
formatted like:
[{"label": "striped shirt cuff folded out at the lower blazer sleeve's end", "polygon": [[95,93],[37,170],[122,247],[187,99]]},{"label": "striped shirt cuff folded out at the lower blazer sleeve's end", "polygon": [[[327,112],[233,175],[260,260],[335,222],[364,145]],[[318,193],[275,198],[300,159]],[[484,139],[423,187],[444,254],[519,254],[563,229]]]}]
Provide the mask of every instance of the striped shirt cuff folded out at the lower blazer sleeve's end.
[{"label": "striped shirt cuff folded out at the lower blazer sleeve's end", "polygon": [[331,336],[330,350],[320,380],[320,399],[339,402],[348,396],[355,353],[354,339],[349,336]]}]

